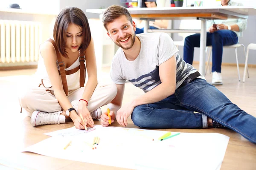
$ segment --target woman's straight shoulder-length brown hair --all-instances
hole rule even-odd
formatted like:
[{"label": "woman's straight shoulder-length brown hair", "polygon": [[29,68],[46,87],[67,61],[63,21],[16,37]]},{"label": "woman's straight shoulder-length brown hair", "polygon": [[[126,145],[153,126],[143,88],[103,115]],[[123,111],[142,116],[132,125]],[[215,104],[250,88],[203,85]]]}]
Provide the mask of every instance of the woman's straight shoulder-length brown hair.
[{"label": "woman's straight shoulder-length brown hair", "polygon": [[67,28],[70,23],[74,23],[82,27],[82,34],[84,38],[82,44],[78,49],[80,50],[81,54],[85,53],[85,50],[90,44],[92,38],[87,17],[81,9],[76,7],[67,7],[62,9],[61,12],[58,14],[58,17],[54,24],[53,38],[58,47],[59,52],[66,58],[68,58],[67,51],[65,51]]}]

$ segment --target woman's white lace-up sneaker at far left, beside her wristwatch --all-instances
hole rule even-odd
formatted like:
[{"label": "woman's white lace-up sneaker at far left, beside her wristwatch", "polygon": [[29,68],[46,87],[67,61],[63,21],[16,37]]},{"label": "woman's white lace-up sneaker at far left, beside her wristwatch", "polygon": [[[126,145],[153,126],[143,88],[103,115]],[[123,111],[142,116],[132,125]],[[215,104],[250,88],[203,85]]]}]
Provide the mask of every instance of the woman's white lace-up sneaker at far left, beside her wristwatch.
[{"label": "woman's white lace-up sneaker at far left, beside her wristwatch", "polygon": [[[50,124],[60,124],[65,122],[65,116],[61,115],[62,111],[46,113],[41,111],[34,111],[31,115],[30,124],[32,126],[39,126],[39,125],[50,125]],[[63,118],[64,116],[64,118]]]}]

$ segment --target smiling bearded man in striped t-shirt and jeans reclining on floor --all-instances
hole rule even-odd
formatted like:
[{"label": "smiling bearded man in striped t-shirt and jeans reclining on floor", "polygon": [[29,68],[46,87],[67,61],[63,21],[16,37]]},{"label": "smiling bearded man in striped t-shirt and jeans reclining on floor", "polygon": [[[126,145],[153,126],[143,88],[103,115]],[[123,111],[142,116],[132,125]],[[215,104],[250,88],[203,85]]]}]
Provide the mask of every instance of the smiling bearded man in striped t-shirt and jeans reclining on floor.
[{"label": "smiling bearded man in striped t-shirt and jeans reclining on floor", "polygon": [[[147,128],[228,127],[256,143],[256,118],[184,62],[168,34],[135,35],[135,23],[122,6],[108,7],[102,20],[108,36],[120,47],[110,72],[117,87],[109,105],[111,122],[116,119],[126,127],[131,115],[135,125]],[[122,106],[126,80],[145,94]],[[102,126],[108,126],[108,120],[103,113]]]}]

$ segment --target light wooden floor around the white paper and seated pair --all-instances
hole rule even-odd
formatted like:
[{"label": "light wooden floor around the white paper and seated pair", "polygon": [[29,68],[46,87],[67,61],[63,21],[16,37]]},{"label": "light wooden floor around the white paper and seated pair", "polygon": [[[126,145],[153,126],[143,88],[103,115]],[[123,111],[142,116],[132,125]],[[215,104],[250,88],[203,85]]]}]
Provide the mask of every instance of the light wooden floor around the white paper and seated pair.
[{"label": "light wooden floor around the white paper and seated pair", "polygon": [[[198,65],[195,65],[198,68]],[[240,68],[241,79],[243,68]],[[44,125],[32,127],[29,117],[19,113],[20,108],[17,95],[30,81],[30,75],[35,69],[18,71],[0,71],[0,169],[42,169],[42,170],[81,170],[81,169],[106,169],[117,170],[118,167],[107,167],[97,164],[55,159],[34,153],[21,153],[23,147],[31,146],[47,139],[49,136],[43,133],[72,127],[73,123],[60,125]],[[102,69],[99,80],[107,80],[109,68]],[[211,80],[211,75],[206,76]],[[224,66],[222,68],[224,85],[217,86],[233,103],[247,113],[256,116],[256,68],[250,68],[250,78],[246,82],[238,81],[236,67]],[[125,97],[123,103],[127,103],[143,91],[135,88],[130,83],[125,85]],[[128,127],[137,128],[129,119]],[[95,124],[99,124],[96,121]],[[116,122],[113,126],[119,126]],[[253,127],[255,130],[255,127]],[[168,130],[168,129],[166,129]],[[171,129],[170,131],[192,133],[221,133],[230,137],[221,170],[255,170],[256,169],[256,144],[252,144],[238,133],[228,129]],[[214,154],[211,147],[205,148],[205,156]],[[119,153],[116,153],[119,156]],[[211,166],[211,165],[209,165]],[[206,168],[207,170],[207,168]]]}]

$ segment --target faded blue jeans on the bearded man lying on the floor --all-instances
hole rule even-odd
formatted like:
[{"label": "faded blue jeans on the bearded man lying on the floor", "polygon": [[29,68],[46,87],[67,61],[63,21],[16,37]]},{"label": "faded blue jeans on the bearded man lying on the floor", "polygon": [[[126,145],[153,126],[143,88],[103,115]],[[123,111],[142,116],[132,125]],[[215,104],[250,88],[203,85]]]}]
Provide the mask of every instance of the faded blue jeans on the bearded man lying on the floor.
[{"label": "faded blue jeans on the bearded man lying on the floor", "polygon": [[135,107],[131,119],[139,127],[189,129],[202,128],[203,116],[256,143],[256,118],[242,111],[204,79],[186,83],[160,102]]}]

